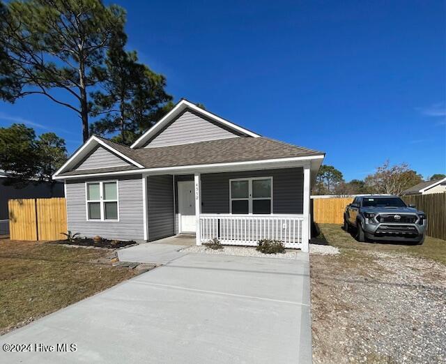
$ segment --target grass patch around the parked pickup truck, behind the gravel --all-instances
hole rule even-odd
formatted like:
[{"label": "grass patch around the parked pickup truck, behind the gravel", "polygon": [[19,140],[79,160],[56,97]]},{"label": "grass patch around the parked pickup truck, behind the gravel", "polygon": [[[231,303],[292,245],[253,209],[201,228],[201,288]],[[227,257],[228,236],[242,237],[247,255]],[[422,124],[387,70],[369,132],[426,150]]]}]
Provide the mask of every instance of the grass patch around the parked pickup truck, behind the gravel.
[{"label": "grass patch around the parked pickup truck, behind the gravel", "polygon": [[350,252],[361,250],[376,250],[379,252],[403,253],[415,257],[432,259],[446,264],[446,241],[426,236],[422,245],[405,245],[403,243],[359,243],[352,234],[347,234],[336,224],[319,225],[321,234],[330,245],[337,248],[353,249]]}]

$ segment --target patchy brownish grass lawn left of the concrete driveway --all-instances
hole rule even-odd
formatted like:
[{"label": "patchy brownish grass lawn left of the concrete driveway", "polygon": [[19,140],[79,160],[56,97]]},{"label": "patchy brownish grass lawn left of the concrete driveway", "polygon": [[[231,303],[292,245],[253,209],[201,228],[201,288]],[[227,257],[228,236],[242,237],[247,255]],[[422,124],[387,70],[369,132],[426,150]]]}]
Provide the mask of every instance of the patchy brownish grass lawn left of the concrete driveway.
[{"label": "patchy brownish grass lawn left of the concrete driveway", "polygon": [[135,275],[107,263],[111,252],[0,240],[0,334]]}]

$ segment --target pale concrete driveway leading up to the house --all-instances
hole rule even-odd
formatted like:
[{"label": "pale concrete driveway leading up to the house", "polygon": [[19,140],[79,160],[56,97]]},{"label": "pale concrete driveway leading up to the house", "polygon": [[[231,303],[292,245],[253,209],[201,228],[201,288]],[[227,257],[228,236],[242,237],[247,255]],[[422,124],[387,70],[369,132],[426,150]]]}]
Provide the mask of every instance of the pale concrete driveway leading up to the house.
[{"label": "pale concrete driveway leading up to the house", "polygon": [[[75,274],[75,272],[73,272]],[[1,363],[310,363],[308,255],[183,255],[3,335]]]}]

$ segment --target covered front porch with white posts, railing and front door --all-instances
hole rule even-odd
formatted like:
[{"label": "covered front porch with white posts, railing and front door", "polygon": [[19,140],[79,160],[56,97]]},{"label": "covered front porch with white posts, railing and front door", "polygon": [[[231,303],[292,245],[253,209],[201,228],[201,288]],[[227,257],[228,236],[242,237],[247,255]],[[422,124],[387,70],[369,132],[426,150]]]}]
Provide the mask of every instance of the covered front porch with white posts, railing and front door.
[{"label": "covered front porch with white posts, railing and front door", "polygon": [[197,245],[255,246],[262,239],[308,251],[311,163],[143,176],[146,240],[194,234]]}]

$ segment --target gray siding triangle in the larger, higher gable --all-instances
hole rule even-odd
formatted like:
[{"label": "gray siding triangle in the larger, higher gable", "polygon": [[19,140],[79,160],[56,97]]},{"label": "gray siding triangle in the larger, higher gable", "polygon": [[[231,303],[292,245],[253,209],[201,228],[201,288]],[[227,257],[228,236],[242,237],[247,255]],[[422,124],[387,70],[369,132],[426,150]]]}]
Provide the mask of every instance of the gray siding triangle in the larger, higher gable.
[{"label": "gray siding triangle in the larger, higher gable", "polygon": [[174,120],[167,128],[153,137],[146,144],[146,148],[156,146],[169,146],[192,142],[204,142],[206,140],[227,139],[239,135],[217,126],[215,123],[203,119],[190,111],[185,111],[178,119]]}]

